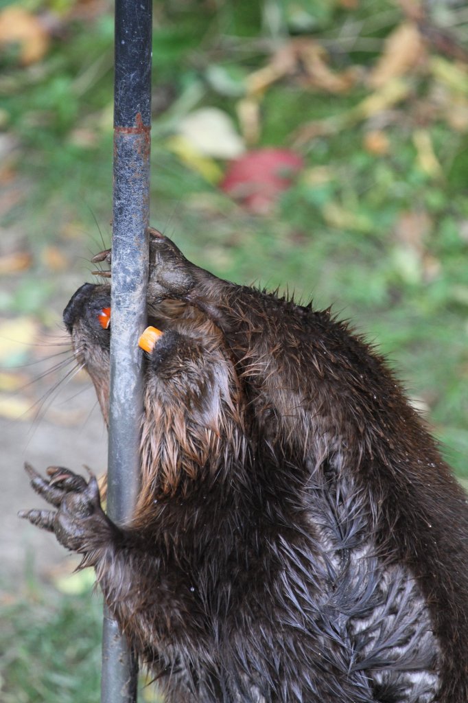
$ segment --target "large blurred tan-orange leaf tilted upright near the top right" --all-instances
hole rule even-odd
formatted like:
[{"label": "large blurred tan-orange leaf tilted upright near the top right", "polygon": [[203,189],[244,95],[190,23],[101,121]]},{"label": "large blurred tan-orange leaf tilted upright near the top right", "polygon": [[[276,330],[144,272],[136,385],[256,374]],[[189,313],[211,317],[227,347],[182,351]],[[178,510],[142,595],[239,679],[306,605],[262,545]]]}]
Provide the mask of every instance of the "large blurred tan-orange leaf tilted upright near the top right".
[{"label": "large blurred tan-orange leaf tilted upright near the top right", "polygon": [[405,75],[422,63],[424,44],[414,22],[403,22],[389,34],[377,65],[370,72],[372,88],[382,88],[391,79]]}]

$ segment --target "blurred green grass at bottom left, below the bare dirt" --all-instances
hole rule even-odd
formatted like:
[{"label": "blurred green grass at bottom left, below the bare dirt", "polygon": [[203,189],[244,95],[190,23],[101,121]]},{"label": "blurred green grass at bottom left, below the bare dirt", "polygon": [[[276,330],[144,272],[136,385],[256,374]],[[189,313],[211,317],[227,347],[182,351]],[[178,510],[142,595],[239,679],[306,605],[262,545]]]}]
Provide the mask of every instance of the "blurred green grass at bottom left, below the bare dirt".
[{"label": "blurred green grass at bottom left, below the bare dirt", "polygon": [[[0,598],[1,702],[99,703],[102,598],[28,583],[22,595]],[[138,697],[162,703],[143,673]]]}]

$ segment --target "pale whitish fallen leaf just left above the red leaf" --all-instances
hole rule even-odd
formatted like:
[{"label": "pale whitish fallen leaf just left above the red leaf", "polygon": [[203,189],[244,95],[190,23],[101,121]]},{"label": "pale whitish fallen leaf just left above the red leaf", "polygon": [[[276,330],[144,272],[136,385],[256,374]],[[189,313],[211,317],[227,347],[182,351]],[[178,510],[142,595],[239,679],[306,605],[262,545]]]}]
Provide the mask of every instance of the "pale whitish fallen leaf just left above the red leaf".
[{"label": "pale whitish fallen leaf just left above the red leaf", "polygon": [[179,134],[202,156],[235,159],[245,151],[233,120],[218,108],[190,112],[179,124]]}]

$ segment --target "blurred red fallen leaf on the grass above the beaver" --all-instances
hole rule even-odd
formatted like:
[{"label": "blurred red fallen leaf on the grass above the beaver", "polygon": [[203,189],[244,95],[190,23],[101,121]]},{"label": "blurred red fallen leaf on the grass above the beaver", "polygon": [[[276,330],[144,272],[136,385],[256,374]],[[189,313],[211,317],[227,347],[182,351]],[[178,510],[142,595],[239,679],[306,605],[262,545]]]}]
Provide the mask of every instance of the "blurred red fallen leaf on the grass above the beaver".
[{"label": "blurred red fallen leaf on the grass above the beaver", "polygon": [[230,163],[220,188],[251,212],[266,214],[303,166],[301,157],[286,149],[249,151]]}]

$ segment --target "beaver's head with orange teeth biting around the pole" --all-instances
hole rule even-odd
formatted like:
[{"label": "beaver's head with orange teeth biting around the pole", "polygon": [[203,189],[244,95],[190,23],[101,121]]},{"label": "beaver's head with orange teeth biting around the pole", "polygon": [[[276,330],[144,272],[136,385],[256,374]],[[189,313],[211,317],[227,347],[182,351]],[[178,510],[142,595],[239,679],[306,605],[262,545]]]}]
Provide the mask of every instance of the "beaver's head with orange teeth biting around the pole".
[{"label": "beaver's head with orange teeth biting around the pole", "polygon": [[[93,381],[108,421],[110,286],[85,283],[63,313],[74,354]],[[145,354],[140,505],[155,496],[186,495],[228,479],[243,463],[244,401],[223,335],[204,314],[175,301],[148,311],[161,330]],[[138,340],[135,340],[138,344]]]}]

